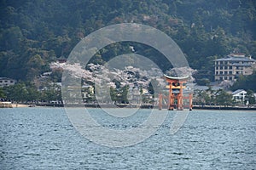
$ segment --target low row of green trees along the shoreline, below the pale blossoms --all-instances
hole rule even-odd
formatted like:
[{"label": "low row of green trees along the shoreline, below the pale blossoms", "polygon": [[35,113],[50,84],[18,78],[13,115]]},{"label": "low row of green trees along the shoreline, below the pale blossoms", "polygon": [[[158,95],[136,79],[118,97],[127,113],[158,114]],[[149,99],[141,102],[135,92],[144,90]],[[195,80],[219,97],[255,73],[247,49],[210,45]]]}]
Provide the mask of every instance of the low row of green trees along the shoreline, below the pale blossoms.
[{"label": "low row of green trees along the shoreline, below the pale blossoms", "polygon": [[[124,86],[122,88],[109,88],[110,98],[109,99],[96,99],[95,90],[82,89],[82,93],[86,92],[83,97],[84,103],[95,104],[95,103],[114,103],[114,104],[129,104],[129,87]],[[153,92],[154,93],[154,92]],[[108,94],[107,94],[108,95]],[[106,95],[106,96],[107,96]],[[104,96],[101,94],[101,96]],[[142,89],[139,91],[139,98],[137,102],[151,103],[154,104],[155,94],[151,95],[152,98],[148,99],[147,96],[143,96]],[[18,82],[15,85],[9,87],[0,88],[0,99],[2,101],[11,101],[17,103],[26,104],[38,104],[38,103],[51,103],[51,102],[62,102],[61,98],[61,86],[51,83],[38,90],[38,88],[31,82]],[[254,105],[256,104],[253,90],[248,89],[245,99],[236,101],[232,94],[227,93],[223,89],[212,90],[195,90],[193,105],[223,105],[223,106],[234,106],[234,105]]]}]

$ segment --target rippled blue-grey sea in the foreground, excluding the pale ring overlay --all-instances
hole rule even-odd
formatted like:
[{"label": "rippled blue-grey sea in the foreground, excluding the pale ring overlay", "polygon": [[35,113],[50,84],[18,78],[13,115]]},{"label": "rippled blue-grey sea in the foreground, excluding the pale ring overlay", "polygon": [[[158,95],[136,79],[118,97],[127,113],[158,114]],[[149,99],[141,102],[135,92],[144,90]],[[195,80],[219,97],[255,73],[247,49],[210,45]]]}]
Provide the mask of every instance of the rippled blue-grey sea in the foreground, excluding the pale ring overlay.
[{"label": "rippled blue-grey sea in the foreground, excluding the pale ring overlay", "polygon": [[[141,110],[119,122],[90,111],[109,128],[137,126],[148,116]],[[174,115],[142,143],[109,148],[81,136],[63,108],[0,109],[0,169],[256,168],[255,111],[191,111],[172,135]]]}]

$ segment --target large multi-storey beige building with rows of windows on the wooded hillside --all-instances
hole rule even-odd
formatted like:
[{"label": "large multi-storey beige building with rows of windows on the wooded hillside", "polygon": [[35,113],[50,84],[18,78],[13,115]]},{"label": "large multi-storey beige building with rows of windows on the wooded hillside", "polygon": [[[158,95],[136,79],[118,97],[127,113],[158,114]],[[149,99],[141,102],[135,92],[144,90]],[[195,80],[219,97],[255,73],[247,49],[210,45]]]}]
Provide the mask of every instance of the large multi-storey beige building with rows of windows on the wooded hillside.
[{"label": "large multi-storey beige building with rows of windows on the wooded hillside", "polygon": [[240,75],[253,74],[256,60],[245,54],[229,54],[222,59],[215,59],[215,81],[236,81]]}]

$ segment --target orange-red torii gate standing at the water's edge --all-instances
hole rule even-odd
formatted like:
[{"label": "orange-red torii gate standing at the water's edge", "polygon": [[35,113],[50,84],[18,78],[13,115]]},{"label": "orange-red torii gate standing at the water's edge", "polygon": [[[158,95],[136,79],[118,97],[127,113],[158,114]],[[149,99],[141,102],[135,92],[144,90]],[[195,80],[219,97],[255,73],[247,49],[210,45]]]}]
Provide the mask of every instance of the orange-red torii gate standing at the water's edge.
[{"label": "orange-red torii gate standing at the water's edge", "polygon": [[[189,111],[192,111],[192,98],[193,94],[189,94],[189,96],[183,96],[183,88],[186,88],[184,86],[184,83],[187,82],[189,77],[169,77],[166,76],[166,82],[168,82],[168,86],[166,88],[169,88],[169,96],[168,96],[168,104],[167,109],[173,111],[173,109],[176,107],[178,111],[182,111],[183,107],[183,99],[189,99]],[[174,93],[173,89],[177,89],[178,92]],[[162,109],[162,101],[165,98],[163,94],[159,94],[159,109]],[[177,99],[177,105],[175,105],[175,99]]]}]

